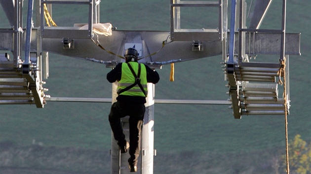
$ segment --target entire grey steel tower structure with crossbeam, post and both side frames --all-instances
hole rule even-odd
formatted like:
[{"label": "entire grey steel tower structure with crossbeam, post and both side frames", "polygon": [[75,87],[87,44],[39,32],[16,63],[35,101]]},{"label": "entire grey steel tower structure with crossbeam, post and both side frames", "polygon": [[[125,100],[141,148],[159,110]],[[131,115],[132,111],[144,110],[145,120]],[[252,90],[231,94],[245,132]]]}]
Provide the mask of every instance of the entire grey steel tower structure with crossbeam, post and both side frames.
[{"label": "entire grey steel tower structure with crossbeam, post and both side frames", "polygon": [[[142,62],[152,68],[172,62],[192,60],[222,55],[225,67],[225,77],[228,81],[229,101],[177,101],[155,100],[154,86],[149,85],[151,92],[147,98],[147,109],[143,127],[142,155],[139,162],[140,172],[153,173],[153,110],[154,103],[189,103],[189,104],[232,104],[234,118],[242,115],[284,115],[289,109],[289,57],[300,55],[300,34],[286,33],[286,0],[282,6],[281,29],[259,29],[261,23],[272,3],[272,0],[259,0],[255,4],[255,17],[249,28],[246,27],[246,2],[245,0],[232,0],[231,26],[228,29],[228,0],[218,1],[181,1],[170,0],[170,31],[118,31],[113,30],[113,35],[104,37],[93,32],[93,24],[99,23],[100,0],[35,0],[36,23],[32,25],[34,0],[28,0],[27,27],[23,29],[22,0],[0,0],[11,29],[0,29],[0,50],[9,51],[10,54],[0,55],[0,104],[36,104],[43,108],[46,101],[81,101],[81,102],[114,102],[116,93],[110,99],[89,98],[55,98],[49,97],[44,92],[45,82],[48,77],[48,52],[59,55],[82,58],[114,67],[120,58],[108,53],[104,56],[103,50],[94,44],[92,39],[108,50],[122,55],[126,43],[141,44],[142,56],[147,56]],[[52,12],[52,4],[81,4],[88,6],[88,28],[74,27],[48,27],[44,22],[44,13]],[[47,6],[47,11],[43,6]],[[182,29],[181,12],[187,7],[206,7],[218,9],[217,29]],[[38,13],[40,12],[40,13]],[[236,13],[238,12],[238,13]],[[235,25],[238,24],[238,25]],[[150,56],[158,50],[158,45],[169,44],[156,55]],[[95,39],[95,40],[96,40]],[[83,43],[83,48],[75,47]],[[189,50],[189,48],[191,48]],[[25,52],[25,57],[22,52]],[[180,50],[176,52],[176,50]],[[100,53],[100,54],[99,54]],[[253,55],[280,55],[275,62],[250,62]],[[149,56],[148,56],[149,55]],[[104,58],[102,58],[104,57]],[[285,62],[285,78],[287,94],[286,104],[284,99],[278,98],[278,84],[275,78],[279,77],[280,61]],[[280,61],[279,61],[280,60]],[[113,84],[115,89],[117,84]],[[113,90],[114,91],[114,90]],[[286,105],[286,107],[285,107]],[[126,119],[123,124],[126,127]],[[125,128],[124,127],[124,128]],[[128,136],[128,133],[126,134]],[[151,141],[152,139],[152,141]],[[127,156],[121,156],[117,144],[112,139],[112,173],[127,173]]]}]

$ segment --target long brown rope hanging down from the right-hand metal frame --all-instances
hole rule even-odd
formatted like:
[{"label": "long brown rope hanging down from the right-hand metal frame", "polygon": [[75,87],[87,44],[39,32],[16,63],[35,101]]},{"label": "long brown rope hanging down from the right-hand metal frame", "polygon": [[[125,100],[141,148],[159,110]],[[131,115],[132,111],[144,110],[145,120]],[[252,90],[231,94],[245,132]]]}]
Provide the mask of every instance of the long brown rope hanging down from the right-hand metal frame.
[{"label": "long brown rope hanging down from the right-hand metal frame", "polygon": [[285,61],[286,58],[284,57],[284,59],[282,61],[280,61],[281,63],[281,67],[278,71],[278,83],[279,84],[283,84],[281,81],[281,76],[283,77],[283,81],[284,81],[284,91],[283,91],[283,98],[284,98],[284,107],[285,107],[285,141],[286,141],[286,171],[287,174],[289,174],[289,162],[288,162],[288,134],[287,134],[287,94],[286,94],[286,78],[285,78]]}]

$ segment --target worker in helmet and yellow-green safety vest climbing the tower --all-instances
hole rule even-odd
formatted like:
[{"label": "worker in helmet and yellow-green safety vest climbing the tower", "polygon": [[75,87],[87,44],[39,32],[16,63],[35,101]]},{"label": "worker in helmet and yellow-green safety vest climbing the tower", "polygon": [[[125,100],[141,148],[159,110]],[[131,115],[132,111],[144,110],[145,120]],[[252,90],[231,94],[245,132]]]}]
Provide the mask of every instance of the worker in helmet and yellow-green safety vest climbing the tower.
[{"label": "worker in helmet and yellow-green safety vest climbing the tower", "polygon": [[[137,171],[140,152],[140,133],[145,114],[145,103],[148,94],[147,83],[156,84],[159,75],[149,66],[138,63],[138,52],[134,48],[125,50],[125,62],[107,74],[110,83],[118,82],[117,102],[112,104],[109,122],[117,141],[120,152],[125,153],[129,148],[128,159],[130,172]],[[129,116],[129,144],[125,140],[120,118]]]}]

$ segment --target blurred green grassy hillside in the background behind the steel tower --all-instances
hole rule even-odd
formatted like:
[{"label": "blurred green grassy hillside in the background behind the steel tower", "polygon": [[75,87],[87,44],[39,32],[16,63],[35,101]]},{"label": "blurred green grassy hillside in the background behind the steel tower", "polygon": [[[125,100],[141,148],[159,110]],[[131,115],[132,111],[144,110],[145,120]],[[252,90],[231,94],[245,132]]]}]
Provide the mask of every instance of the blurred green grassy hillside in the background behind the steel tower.
[{"label": "blurred green grassy hillside in the background behind the steel tower", "polygon": [[[247,2],[249,4],[250,0]],[[279,25],[279,3],[272,2],[263,28]],[[24,2],[26,5],[27,1]],[[85,23],[78,7],[66,7],[59,12],[54,8],[53,19],[61,26]],[[7,27],[2,9],[0,21],[1,28]],[[111,22],[120,30],[169,30],[169,0],[102,0],[100,21]],[[311,140],[310,28],[310,1],[288,1],[286,32],[301,33],[301,56],[289,57],[288,135],[291,139],[300,134],[306,141]],[[169,82],[170,67],[163,66],[157,70],[161,80],[156,85],[156,99],[227,100],[228,88],[221,61],[217,56],[175,63],[174,82]],[[105,65],[50,54],[49,66],[47,94],[53,97],[111,97],[111,84],[106,80],[110,69]],[[0,171],[52,168],[68,173],[109,173],[110,105],[48,102],[43,109],[1,105]],[[154,130],[155,174],[271,174],[274,172],[273,157],[285,153],[283,116],[242,116],[237,120],[225,105],[155,104]],[[5,145],[12,148],[4,148]],[[29,155],[23,156],[27,151]],[[64,153],[67,155],[62,156]],[[29,159],[34,162],[23,162]],[[48,160],[53,162],[50,168]],[[59,164],[61,161],[63,164]],[[90,165],[91,162],[97,167]]]}]

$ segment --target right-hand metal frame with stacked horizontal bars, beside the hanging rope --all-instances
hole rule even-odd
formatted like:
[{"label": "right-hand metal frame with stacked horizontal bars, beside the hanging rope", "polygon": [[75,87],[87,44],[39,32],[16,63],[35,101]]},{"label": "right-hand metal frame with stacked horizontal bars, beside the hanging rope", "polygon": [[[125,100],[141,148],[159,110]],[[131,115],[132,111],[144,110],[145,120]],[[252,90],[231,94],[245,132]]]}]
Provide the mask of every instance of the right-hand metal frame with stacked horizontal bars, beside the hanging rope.
[{"label": "right-hand metal frame with stacked horizontal bars, beside the hanging rope", "polygon": [[[283,0],[282,4],[281,29],[259,29],[271,2],[272,0],[264,1],[264,8],[257,13],[257,15],[261,15],[258,15],[257,20],[252,21],[249,29],[246,28],[244,20],[246,3],[243,0],[239,2],[238,34],[230,33],[229,58],[225,62],[234,118],[241,118],[242,115],[284,115],[285,112],[289,112],[288,55],[300,55],[300,44],[299,42],[297,43],[300,34],[285,35],[286,0]],[[234,12],[235,10],[232,11]],[[234,16],[232,14],[232,17]],[[233,22],[234,19],[231,21]],[[231,30],[233,29],[235,30],[234,25],[231,25]],[[261,37],[260,35],[270,36],[271,38],[263,39],[261,43],[256,43],[256,37]],[[234,51],[234,37],[236,36],[238,38],[237,52]],[[288,49],[288,45],[285,45],[285,40],[292,42],[291,46],[297,46],[295,52]],[[249,62],[249,55],[261,54],[260,46],[262,45],[267,48],[273,48],[273,51],[265,50],[264,52],[271,55],[280,55],[279,60],[276,60],[276,62]],[[285,84],[286,91],[284,93],[287,97],[279,99],[278,84],[275,78],[280,77],[281,62],[285,58],[287,61],[285,61],[286,74],[284,77],[288,83]],[[285,107],[285,105],[287,106]]]}]

